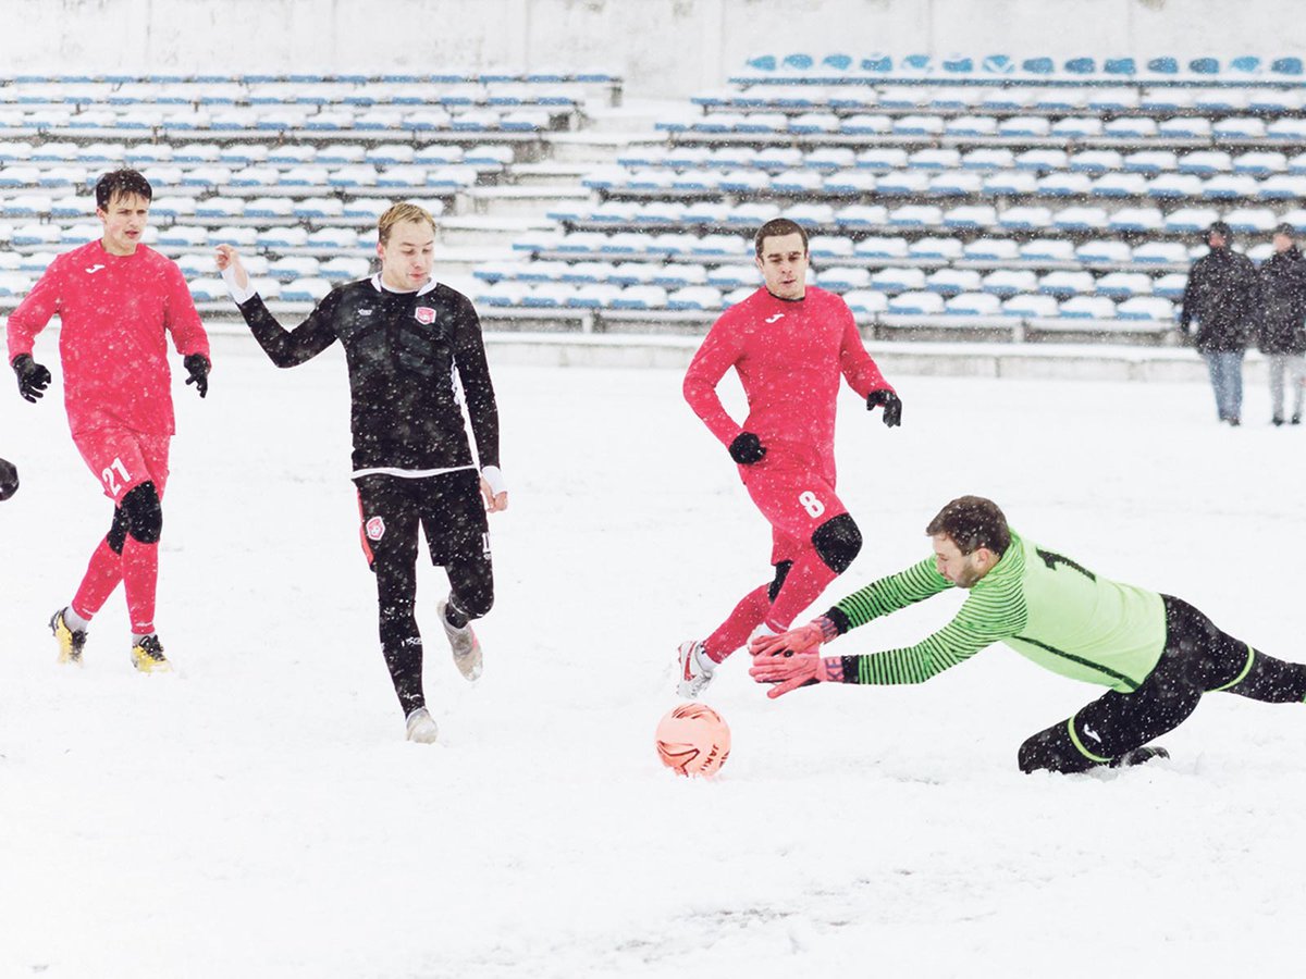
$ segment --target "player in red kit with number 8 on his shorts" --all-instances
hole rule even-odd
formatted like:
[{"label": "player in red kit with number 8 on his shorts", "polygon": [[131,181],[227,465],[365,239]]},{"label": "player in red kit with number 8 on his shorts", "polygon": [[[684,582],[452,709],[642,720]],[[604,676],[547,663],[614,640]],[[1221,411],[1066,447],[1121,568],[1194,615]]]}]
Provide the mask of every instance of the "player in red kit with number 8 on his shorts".
[{"label": "player in red kit with number 8 on his shorts", "polygon": [[[777,218],[755,240],[764,285],[713,324],[684,376],[684,398],[727,446],[748,496],[772,527],[774,578],[755,587],[705,640],[679,649],[678,692],[696,697],[755,630],[784,632],[841,574],[862,535],[835,492],[838,379],[897,426],[902,402],[862,346],[853,313],[807,285],[807,232]],[[739,375],[748,399],[741,426],[716,388]]]}]

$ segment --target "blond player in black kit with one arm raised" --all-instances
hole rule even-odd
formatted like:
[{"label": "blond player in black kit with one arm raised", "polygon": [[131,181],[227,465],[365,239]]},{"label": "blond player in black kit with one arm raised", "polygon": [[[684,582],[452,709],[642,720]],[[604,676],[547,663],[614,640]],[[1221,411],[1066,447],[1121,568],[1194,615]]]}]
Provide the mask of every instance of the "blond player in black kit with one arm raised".
[{"label": "blond player in black kit with one arm raised", "polygon": [[481,644],[471,620],[494,603],[486,510],[508,506],[481,322],[466,296],[431,278],[434,245],[435,219],[417,205],[396,204],[377,222],[381,270],[333,290],[293,330],[268,312],[235,249],[219,245],[217,255],[242,316],[277,367],[302,364],[337,339],[345,347],[363,551],[376,573],[381,649],[410,741],[438,736],[422,691],[422,636],[413,612],[418,526],[432,561],[449,576],[439,614],[454,663],[475,680]]}]

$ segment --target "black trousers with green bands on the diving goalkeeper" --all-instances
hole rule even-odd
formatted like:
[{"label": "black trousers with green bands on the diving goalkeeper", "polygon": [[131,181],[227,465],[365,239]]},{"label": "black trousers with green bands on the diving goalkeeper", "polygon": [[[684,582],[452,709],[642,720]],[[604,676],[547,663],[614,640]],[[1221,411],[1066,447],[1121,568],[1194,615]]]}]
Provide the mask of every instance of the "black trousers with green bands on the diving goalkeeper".
[{"label": "black trousers with green bands on the diving goalkeeper", "polygon": [[1267,657],[1170,595],[1165,651],[1131,693],[1109,691],[1020,745],[1021,771],[1087,771],[1173,731],[1202,694],[1228,691],[1267,704],[1306,700],[1306,664]]}]

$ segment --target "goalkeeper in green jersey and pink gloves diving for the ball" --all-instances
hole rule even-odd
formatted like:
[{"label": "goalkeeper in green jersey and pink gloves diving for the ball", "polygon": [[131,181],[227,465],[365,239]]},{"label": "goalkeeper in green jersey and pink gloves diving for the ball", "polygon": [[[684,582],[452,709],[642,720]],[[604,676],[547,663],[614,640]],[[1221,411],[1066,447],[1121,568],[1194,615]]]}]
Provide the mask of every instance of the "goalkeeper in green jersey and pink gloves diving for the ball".
[{"label": "goalkeeper in green jersey and pink gloves diving for the ball", "polygon": [[[934,556],[874,581],[812,623],[752,641],[750,674],[780,697],[819,681],[922,683],[1006,642],[1053,672],[1110,689],[1020,745],[1021,771],[1085,771],[1165,754],[1148,741],[1192,713],[1203,693],[1269,704],[1306,700],[1306,666],[1235,640],[1170,595],[1102,578],[1007,526],[998,505],[963,496],[925,530]],[[952,586],[957,615],[914,646],[823,657],[820,645]]]}]

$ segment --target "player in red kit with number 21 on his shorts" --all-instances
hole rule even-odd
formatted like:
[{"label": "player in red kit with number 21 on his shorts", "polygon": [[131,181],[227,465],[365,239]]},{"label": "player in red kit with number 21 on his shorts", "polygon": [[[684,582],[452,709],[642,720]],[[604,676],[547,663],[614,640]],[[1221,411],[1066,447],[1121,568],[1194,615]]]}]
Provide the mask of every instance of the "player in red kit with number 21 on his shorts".
[{"label": "player in red kit with number 21 on his shorts", "polygon": [[184,358],[185,382],[201,398],[210,368],[209,338],[182,270],[141,243],[151,197],[149,181],[135,170],[102,176],[95,184],[102,238],[55,258],[8,324],[18,392],[35,402],[51,376],[33,359],[33,347],[50,317],[59,315],[68,427],[114,501],[114,522],[77,594],[50,620],[59,660],[81,662],[91,617],[123,582],[132,663],[142,672],[171,668],[154,632],[161,500],[175,431],[166,334]]}]

